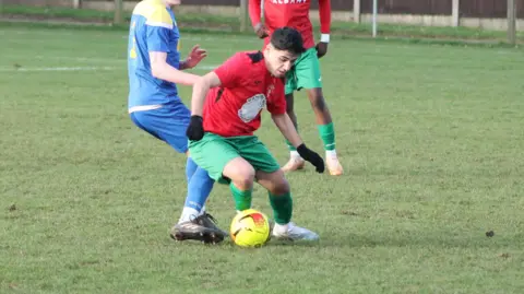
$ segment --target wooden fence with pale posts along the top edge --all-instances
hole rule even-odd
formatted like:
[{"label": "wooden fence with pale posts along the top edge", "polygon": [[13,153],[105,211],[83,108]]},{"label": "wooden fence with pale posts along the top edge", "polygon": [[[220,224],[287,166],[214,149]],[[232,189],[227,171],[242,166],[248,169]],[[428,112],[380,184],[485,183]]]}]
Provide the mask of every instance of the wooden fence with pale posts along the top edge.
[{"label": "wooden fence with pale posts along the top edge", "polygon": [[[129,10],[140,0],[123,0]],[[289,0],[273,0],[289,1]],[[313,10],[318,0],[311,1]],[[514,0],[516,30],[524,30],[524,0]],[[119,0],[0,0],[4,4],[72,5],[75,8],[115,10]],[[239,15],[241,0],[182,0],[181,9],[192,12]],[[372,0],[331,0],[332,19],[350,22],[370,22]],[[381,23],[412,25],[471,26],[508,30],[508,0],[378,0],[378,20]],[[311,13],[317,17],[318,13]]]}]

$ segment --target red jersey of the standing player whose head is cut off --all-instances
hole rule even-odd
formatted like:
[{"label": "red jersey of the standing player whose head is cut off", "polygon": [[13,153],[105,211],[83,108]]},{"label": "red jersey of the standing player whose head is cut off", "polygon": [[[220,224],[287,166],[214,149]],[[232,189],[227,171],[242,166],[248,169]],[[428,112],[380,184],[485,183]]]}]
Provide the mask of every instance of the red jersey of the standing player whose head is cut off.
[{"label": "red jersey of the standing player whose head is cut off", "polygon": [[[264,24],[270,30],[270,35],[279,27],[290,26],[302,35],[306,49],[315,46],[313,26],[309,19],[312,0],[249,0],[249,15],[251,24],[260,23],[261,2],[264,1]],[[320,33],[330,34],[331,30],[331,1],[319,1]],[[270,38],[265,38],[265,45]]]}]

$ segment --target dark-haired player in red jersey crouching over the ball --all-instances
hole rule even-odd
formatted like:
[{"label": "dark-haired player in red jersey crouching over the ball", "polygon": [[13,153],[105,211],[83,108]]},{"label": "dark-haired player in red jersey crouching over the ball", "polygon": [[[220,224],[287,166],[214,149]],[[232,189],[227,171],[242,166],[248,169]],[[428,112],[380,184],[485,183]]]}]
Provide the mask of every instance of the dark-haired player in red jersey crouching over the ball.
[{"label": "dark-haired player in red jersey crouching over the ball", "polygon": [[293,199],[284,172],[253,136],[261,124],[260,113],[267,107],[284,137],[317,172],[323,173],[322,157],[302,143],[286,114],[282,78],[303,50],[298,31],[279,28],[263,54],[236,54],[200,79],[193,86],[188,138],[196,164],[215,180],[229,183],[238,211],[251,208],[257,179],[269,191],[275,219],[273,236],[311,240],[319,236],[290,222]]}]

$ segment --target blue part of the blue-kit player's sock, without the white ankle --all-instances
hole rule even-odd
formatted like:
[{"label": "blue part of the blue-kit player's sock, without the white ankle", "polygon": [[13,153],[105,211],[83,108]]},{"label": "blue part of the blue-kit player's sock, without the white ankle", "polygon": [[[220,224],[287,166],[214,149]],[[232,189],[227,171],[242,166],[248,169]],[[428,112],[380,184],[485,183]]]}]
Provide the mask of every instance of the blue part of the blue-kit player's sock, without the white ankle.
[{"label": "blue part of the blue-kit player's sock, without the white ankle", "polygon": [[210,178],[205,169],[200,167],[191,176],[188,184],[188,197],[186,198],[184,208],[191,208],[201,211],[213,189],[215,181]]}]

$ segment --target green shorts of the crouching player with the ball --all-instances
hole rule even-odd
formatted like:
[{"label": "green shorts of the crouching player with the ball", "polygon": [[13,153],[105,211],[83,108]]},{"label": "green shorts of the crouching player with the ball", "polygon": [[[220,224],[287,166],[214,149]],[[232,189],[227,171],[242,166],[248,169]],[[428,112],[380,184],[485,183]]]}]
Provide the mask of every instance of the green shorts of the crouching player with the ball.
[{"label": "green shorts of the crouching player with the ball", "polygon": [[200,141],[189,142],[191,158],[207,170],[210,177],[222,184],[228,183],[222,175],[231,160],[242,157],[254,170],[273,173],[281,168],[275,157],[255,136],[222,137],[206,132]]}]

